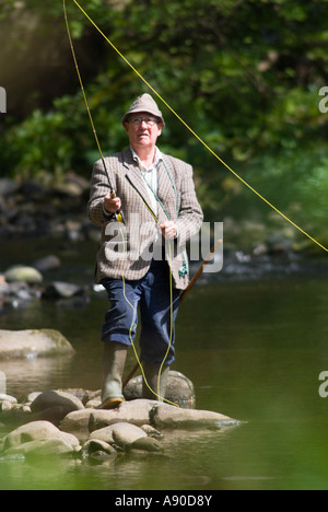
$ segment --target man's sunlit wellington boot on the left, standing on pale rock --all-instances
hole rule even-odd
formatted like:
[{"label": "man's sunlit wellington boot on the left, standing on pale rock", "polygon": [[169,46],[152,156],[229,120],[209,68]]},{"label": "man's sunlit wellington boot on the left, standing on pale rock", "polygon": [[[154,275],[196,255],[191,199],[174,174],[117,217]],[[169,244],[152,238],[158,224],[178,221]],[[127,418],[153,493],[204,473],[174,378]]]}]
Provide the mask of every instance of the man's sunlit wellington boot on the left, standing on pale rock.
[{"label": "man's sunlit wellington boot on the left, standing on pale rock", "polygon": [[128,349],[118,342],[104,344],[104,385],[99,409],[116,409],[124,400],[122,374]]}]

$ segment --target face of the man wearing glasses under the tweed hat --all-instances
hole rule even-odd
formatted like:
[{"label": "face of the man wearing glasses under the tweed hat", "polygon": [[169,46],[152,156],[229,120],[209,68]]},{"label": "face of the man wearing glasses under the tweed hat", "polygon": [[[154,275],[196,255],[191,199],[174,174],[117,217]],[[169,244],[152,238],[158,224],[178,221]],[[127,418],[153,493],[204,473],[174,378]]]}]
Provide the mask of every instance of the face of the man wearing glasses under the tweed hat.
[{"label": "face of the man wearing glasses under the tweed hat", "polygon": [[134,150],[155,147],[162,135],[162,125],[147,113],[132,114],[128,123],[125,123],[125,128]]}]

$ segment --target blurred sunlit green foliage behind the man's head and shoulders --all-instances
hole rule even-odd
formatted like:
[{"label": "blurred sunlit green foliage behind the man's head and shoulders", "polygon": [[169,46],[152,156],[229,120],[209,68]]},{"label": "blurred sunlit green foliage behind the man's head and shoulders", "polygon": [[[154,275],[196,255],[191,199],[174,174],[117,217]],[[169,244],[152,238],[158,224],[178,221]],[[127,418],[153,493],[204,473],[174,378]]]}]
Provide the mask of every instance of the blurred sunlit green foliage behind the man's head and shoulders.
[{"label": "blurred sunlit green foliage behind the man's head and shoulders", "polygon": [[[8,0],[9,1],[9,0]],[[94,32],[68,0],[74,38]],[[83,9],[179,116],[251,186],[305,228],[328,214],[327,124],[318,91],[328,85],[327,0],[81,0]],[[42,16],[61,2],[28,0]],[[99,37],[103,71],[86,84],[104,152],[127,141],[124,110],[147,86]],[[87,48],[84,48],[87,51]],[[74,68],[72,65],[72,73]],[[268,209],[163,106],[164,150],[194,164],[204,210],[267,216]],[[80,92],[7,127],[1,168],[90,174],[98,153]],[[257,213],[256,213],[257,212]]]}]

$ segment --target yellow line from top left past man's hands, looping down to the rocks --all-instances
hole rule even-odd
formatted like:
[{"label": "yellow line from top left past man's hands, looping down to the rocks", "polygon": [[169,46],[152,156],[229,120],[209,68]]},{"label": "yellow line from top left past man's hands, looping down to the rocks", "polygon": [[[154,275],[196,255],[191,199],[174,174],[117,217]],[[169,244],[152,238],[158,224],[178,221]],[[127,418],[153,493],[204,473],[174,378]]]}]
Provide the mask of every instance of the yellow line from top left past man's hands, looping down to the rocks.
[{"label": "yellow line from top left past man's hands, looping down to the rocks", "polygon": [[[69,42],[70,42],[70,47],[71,47],[71,51],[72,51],[72,56],[73,56],[73,60],[74,60],[74,65],[75,65],[75,69],[77,69],[77,73],[78,73],[78,78],[79,78],[79,82],[80,82],[80,86],[81,86],[81,90],[82,90],[82,93],[83,93],[83,98],[84,98],[84,103],[85,103],[85,106],[86,106],[86,109],[87,109],[87,114],[89,114],[89,118],[90,118],[90,123],[91,123],[91,126],[92,126],[92,130],[93,130],[93,133],[94,133],[94,137],[95,137],[95,140],[96,140],[96,144],[97,144],[97,148],[98,148],[98,151],[99,151],[99,154],[101,154],[101,158],[102,158],[102,162],[103,162],[103,165],[104,165],[104,168],[105,168],[105,173],[107,175],[107,178],[108,178],[108,184],[109,184],[109,189],[112,191],[112,195],[115,196],[115,191],[114,191],[114,188],[112,187],[112,184],[110,184],[110,178],[109,178],[109,174],[108,174],[108,170],[107,170],[107,166],[106,166],[106,162],[105,162],[105,158],[104,158],[104,153],[103,153],[103,150],[102,150],[102,147],[101,147],[101,142],[99,142],[99,139],[98,139],[98,136],[97,136],[97,132],[96,132],[96,128],[95,128],[95,125],[94,125],[94,120],[93,120],[93,116],[91,114],[91,109],[90,109],[90,105],[89,105],[89,101],[87,101],[87,97],[86,97],[86,93],[85,93],[85,90],[84,90],[84,84],[83,84],[83,80],[82,80],[82,75],[81,75],[81,72],[80,72],[80,68],[79,68],[79,63],[78,63],[78,59],[77,59],[77,55],[75,55],[75,50],[74,50],[74,46],[73,46],[73,40],[72,40],[72,36],[71,36],[71,30],[70,30],[70,25],[69,25],[69,20],[68,20],[68,13],[67,13],[67,5],[66,5],[66,0],[63,0],[63,13],[65,13],[65,21],[66,21],[66,27],[67,27],[67,32],[68,32],[68,36],[69,36]],[[79,7],[79,5],[78,5]],[[114,173],[116,175],[119,176],[119,173],[118,171],[113,167],[113,166],[109,166],[112,168],[112,171],[114,171]],[[138,191],[131,186],[131,184],[129,184],[127,182],[127,185],[130,187],[131,190],[133,190],[134,194],[138,194]],[[154,212],[152,211],[152,209],[150,208],[150,206],[147,203],[147,201],[143,199],[143,197],[138,194],[138,196],[141,198],[143,205],[145,206],[145,208],[149,210],[149,212],[151,213],[151,216],[153,217],[154,221],[156,222],[156,224],[161,228],[161,223],[160,223],[160,220],[157,219],[157,217],[154,214]],[[122,228],[121,228],[121,224],[124,223],[122,222],[122,217],[121,214],[117,216],[117,220],[118,220],[118,226],[119,226],[119,231],[120,231],[120,234],[122,236],[122,242],[124,242],[124,254],[126,254],[126,240],[125,240],[125,235],[124,235],[124,232],[122,232]],[[136,346],[134,346],[134,341],[133,341],[133,337],[132,337],[132,330],[136,329],[136,323],[134,323],[134,318],[136,318],[136,307],[130,303],[130,301],[128,300],[127,295],[126,295],[126,278],[125,278],[125,274],[124,274],[124,268],[122,268],[122,260],[124,258],[121,259],[121,277],[122,277],[122,283],[124,283],[124,298],[125,300],[127,301],[127,303],[130,305],[130,307],[132,307],[132,311],[133,311],[133,319],[132,319],[132,324],[130,326],[130,330],[129,330],[129,336],[130,336],[130,341],[131,341],[131,345],[132,345],[132,348],[133,348],[133,352],[134,352],[134,356],[136,356],[136,359],[138,361],[138,364],[140,366],[140,370],[141,370],[141,373],[142,373],[142,376],[143,376],[143,380],[144,380],[144,383],[147,385],[147,387],[159,398],[159,400],[164,400],[171,405],[174,405],[176,407],[179,407],[177,404],[174,404],[173,402],[169,402],[169,400],[166,400],[165,397],[161,397],[160,396],[160,385],[161,385],[161,375],[162,375],[162,372],[163,372],[163,366],[165,364],[165,361],[167,359],[167,356],[168,356],[168,352],[171,350],[171,347],[172,347],[172,344],[173,344],[173,275],[172,275],[172,267],[171,267],[171,264],[172,264],[172,253],[171,253],[171,245],[169,245],[169,261],[168,261],[168,268],[169,268],[169,294],[171,294],[171,336],[169,336],[169,344],[168,344],[168,348],[167,348],[167,352],[163,359],[163,362],[161,364],[161,368],[160,368],[160,371],[159,371],[159,381],[157,381],[157,393],[155,393],[154,389],[152,389],[148,383],[148,380],[145,377],[145,374],[144,374],[144,371],[143,371],[143,366],[142,366],[142,363],[139,359],[139,356],[138,356],[138,351],[136,349]]]}]

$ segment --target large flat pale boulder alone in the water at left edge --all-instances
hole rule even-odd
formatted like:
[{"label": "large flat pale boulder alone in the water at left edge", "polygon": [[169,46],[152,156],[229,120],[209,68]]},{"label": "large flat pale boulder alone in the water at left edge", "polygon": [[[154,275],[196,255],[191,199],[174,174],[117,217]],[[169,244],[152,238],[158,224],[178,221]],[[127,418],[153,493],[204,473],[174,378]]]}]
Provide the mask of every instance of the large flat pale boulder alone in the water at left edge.
[{"label": "large flat pale boulder alone in the water at left edge", "polygon": [[74,349],[58,330],[0,330],[0,360],[69,352]]}]

